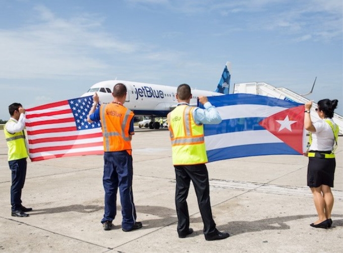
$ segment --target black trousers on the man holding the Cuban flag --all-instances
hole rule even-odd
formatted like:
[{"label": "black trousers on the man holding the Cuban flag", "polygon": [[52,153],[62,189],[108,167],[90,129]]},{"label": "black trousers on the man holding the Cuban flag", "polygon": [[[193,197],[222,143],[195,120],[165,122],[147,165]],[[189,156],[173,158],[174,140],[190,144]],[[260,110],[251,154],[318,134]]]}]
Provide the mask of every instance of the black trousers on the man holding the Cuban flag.
[{"label": "black trousers on the man holding the Cuban flag", "polygon": [[189,229],[187,196],[191,180],[194,185],[201,218],[204,223],[204,234],[208,235],[214,233],[216,228],[212,218],[209,195],[210,189],[206,165],[178,165],[174,167],[176,174],[175,202],[176,212],[178,215],[178,233],[187,234]]}]

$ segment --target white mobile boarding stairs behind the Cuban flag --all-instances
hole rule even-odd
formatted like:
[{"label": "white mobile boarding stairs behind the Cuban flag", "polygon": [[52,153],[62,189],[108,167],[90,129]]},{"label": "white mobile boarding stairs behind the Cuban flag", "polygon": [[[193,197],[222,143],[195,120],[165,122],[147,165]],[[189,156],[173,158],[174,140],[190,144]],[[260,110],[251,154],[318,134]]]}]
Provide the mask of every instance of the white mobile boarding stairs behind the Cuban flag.
[{"label": "white mobile boarding stairs behind the Cuban flag", "polygon": [[[288,99],[292,100],[297,103],[306,104],[310,99],[299,95],[292,90],[286,88],[276,88],[270,84],[264,82],[249,82],[249,83],[235,83],[234,86],[234,93],[248,93],[248,94],[255,94],[255,95],[263,95],[269,97],[275,97],[279,99]],[[317,104],[313,103],[311,108],[311,119],[319,120],[318,114],[316,113],[315,109],[318,107]],[[339,135],[343,134],[343,117],[334,114],[333,121],[339,127]]]}]

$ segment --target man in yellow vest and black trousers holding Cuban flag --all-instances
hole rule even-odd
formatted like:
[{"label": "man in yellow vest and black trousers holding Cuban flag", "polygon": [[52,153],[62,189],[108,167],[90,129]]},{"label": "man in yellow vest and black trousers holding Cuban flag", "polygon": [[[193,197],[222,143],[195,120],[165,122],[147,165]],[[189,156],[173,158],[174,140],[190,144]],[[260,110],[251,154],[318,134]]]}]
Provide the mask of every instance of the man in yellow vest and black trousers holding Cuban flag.
[{"label": "man in yellow vest and black trousers holding Cuban flag", "polygon": [[219,240],[229,237],[219,232],[212,218],[209,179],[206,168],[207,155],[204,142],[203,124],[218,124],[221,117],[206,96],[199,96],[199,102],[205,109],[191,107],[191,88],[188,84],[178,87],[177,107],[167,115],[170,140],[172,141],[173,165],[176,173],[176,211],[178,215],[178,234],[185,238],[193,233],[189,227],[187,196],[192,181],[198,199],[201,217],[204,223],[206,240]]}]

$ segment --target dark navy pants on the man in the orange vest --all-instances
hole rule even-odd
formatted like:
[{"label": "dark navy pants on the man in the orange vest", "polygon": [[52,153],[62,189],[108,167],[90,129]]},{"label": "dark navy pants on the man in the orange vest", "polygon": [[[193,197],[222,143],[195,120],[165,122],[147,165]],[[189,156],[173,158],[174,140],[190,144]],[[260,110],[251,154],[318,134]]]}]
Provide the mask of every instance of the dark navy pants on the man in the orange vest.
[{"label": "dark navy pants on the man in the orange vest", "polygon": [[136,209],[132,193],[132,156],[124,150],[105,152],[103,158],[102,182],[105,190],[105,213],[101,223],[115,219],[119,188],[123,216],[122,228],[130,230],[136,222]]}]

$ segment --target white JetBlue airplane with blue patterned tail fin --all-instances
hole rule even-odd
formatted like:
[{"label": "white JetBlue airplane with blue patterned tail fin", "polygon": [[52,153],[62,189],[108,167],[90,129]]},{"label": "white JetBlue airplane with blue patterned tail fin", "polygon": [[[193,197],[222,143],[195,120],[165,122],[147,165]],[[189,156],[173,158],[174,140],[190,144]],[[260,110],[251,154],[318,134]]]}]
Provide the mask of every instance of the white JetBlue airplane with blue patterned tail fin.
[{"label": "white JetBlue airplane with blue patterned tail fin", "polygon": [[[231,64],[227,62],[215,91],[192,89],[190,105],[197,106],[197,97],[200,95],[228,94],[231,79],[230,69]],[[151,118],[150,129],[159,129],[160,123],[155,122],[154,119],[166,117],[177,106],[177,87],[124,80],[107,80],[95,83],[81,96],[90,96],[97,92],[100,104],[110,103],[113,100],[113,86],[117,83],[123,83],[128,90],[125,107],[133,111],[135,116],[149,116]]]}]

